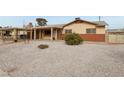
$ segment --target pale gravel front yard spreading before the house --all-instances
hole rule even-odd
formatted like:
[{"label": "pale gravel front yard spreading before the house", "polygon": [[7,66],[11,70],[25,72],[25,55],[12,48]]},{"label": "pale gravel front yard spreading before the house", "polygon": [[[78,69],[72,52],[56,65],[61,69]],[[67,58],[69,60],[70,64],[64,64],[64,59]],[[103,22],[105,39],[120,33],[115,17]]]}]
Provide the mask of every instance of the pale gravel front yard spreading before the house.
[{"label": "pale gravel front yard spreading before the house", "polygon": [[[40,50],[39,44],[49,48]],[[0,45],[0,76],[124,76],[124,45],[63,41]]]}]

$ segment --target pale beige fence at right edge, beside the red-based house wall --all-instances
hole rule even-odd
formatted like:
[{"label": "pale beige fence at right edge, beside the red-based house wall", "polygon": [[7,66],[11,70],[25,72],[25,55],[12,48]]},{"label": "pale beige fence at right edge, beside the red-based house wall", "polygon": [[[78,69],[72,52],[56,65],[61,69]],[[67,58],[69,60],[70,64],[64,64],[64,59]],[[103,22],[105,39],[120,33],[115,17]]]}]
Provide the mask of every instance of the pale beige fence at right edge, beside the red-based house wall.
[{"label": "pale beige fence at right edge, beside the red-based house wall", "polygon": [[109,43],[124,43],[124,35],[120,34],[109,35]]}]

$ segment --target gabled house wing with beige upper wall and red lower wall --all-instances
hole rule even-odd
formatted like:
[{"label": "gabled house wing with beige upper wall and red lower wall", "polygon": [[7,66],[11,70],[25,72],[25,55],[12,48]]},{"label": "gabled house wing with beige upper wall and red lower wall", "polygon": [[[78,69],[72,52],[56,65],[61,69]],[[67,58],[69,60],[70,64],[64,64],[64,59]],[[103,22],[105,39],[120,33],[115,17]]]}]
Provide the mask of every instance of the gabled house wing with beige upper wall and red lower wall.
[{"label": "gabled house wing with beige upper wall and red lower wall", "polygon": [[89,22],[86,20],[75,19],[63,26],[62,34],[78,33],[84,40],[105,41],[105,29],[108,24],[104,21]]}]

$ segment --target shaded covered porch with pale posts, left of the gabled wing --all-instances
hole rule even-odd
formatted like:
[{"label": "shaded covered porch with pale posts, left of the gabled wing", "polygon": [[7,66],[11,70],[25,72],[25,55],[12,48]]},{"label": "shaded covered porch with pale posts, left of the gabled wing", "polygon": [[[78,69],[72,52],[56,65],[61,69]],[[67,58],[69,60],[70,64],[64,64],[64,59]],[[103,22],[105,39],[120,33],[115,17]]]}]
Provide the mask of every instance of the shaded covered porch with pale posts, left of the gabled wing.
[{"label": "shaded covered porch with pale posts, left of the gabled wing", "polygon": [[28,33],[32,40],[59,40],[61,39],[62,28],[60,27],[34,27]]}]

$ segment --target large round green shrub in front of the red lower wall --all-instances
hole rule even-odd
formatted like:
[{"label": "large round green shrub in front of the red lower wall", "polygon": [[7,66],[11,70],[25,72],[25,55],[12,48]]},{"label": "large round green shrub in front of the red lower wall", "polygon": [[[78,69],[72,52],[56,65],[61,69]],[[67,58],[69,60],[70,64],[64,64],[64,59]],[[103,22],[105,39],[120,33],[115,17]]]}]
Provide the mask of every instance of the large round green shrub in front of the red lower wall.
[{"label": "large round green shrub in front of the red lower wall", "polygon": [[71,33],[65,35],[65,43],[67,45],[79,45],[83,42],[83,39],[79,34]]}]

